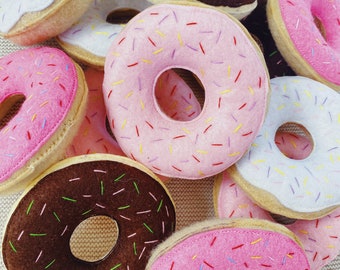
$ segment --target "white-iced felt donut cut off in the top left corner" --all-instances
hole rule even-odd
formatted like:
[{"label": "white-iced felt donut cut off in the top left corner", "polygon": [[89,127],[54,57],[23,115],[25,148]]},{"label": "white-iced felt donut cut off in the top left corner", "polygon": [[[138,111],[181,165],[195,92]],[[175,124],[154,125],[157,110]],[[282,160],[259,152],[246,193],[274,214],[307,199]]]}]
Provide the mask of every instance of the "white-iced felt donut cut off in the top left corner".
[{"label": "white-iced felt donut cut off in the top left corner", "polygon": [[0,0],[0,35],[19,45],[54,37],[76,22],[92,0]]}]

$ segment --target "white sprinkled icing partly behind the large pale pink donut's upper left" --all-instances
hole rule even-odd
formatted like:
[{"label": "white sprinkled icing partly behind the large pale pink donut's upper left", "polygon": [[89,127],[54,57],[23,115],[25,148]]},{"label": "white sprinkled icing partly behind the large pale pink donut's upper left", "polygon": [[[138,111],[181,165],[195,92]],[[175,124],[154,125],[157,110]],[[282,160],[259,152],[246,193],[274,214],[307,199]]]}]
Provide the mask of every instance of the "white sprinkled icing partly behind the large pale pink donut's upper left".
[{"label": "white sprinkled icing partly behind the large pale pink donut's upper left", "polygon": [[124,27],[107,23],[107,16],[117,9],[141,11],[150,5],[145,0],[96,0],[79,22],[59,35],[59,38],[96,56],[105,57],[112,41]]}]

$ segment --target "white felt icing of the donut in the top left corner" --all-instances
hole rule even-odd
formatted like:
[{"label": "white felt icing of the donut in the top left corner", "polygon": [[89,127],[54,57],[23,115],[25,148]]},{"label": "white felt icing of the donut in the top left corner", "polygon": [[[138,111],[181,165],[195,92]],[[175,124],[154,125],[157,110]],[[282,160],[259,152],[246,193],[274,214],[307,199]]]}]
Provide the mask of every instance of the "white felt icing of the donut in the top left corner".
[{"label": "white felt icing of the donut in the top left corner", "polygon": [[8,33],[20,18],[49,7],[54,0],[0,0],[0,32]]}]

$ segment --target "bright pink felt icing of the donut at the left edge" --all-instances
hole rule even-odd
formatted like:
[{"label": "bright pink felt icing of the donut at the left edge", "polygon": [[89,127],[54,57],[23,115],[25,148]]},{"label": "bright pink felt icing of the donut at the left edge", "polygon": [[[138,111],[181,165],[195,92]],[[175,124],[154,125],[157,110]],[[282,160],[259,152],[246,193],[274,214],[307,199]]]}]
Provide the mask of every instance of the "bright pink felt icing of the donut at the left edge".
[{"label": "bright pink felt icing of the donut at the left edge", "polygon": [[25,101],[0,131],[0,182],[39,152],[62,124],[78,80],[73,62],[54,48],[17,51],[0,59],[0,103],[13,95]]}]

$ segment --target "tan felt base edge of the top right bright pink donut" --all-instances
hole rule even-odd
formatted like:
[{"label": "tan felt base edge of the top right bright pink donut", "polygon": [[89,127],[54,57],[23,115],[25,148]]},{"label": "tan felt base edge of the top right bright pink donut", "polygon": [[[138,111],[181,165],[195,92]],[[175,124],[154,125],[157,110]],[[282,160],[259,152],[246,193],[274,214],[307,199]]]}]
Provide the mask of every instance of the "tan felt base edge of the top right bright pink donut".
[{"label": "tan felt base edge of the top right bright pink donut", "polygon": [[270,32],[282,56],[296,74],[309,77],[333,88],[336,91],[340,91],[340,85],[333,84],[321,77],[297,52],[281,18],[278,3],[279,0],[268,1],[267,18]]}]

